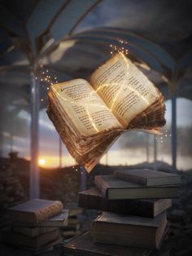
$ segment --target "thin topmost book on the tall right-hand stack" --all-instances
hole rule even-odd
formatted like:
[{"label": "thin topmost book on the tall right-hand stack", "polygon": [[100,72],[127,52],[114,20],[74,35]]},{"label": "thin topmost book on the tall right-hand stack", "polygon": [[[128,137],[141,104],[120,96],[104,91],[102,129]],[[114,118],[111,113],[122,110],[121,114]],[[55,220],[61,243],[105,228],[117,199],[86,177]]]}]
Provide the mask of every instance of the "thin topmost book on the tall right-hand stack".
[{"label": "thin topmost book on the tall right-hand stack", "polygon": [[181,175],[170,174],[159,170],[116,170],[115,176],[118,179],[138,183],[146,187],[181,184]]}]

